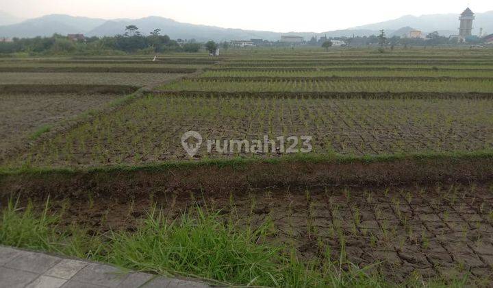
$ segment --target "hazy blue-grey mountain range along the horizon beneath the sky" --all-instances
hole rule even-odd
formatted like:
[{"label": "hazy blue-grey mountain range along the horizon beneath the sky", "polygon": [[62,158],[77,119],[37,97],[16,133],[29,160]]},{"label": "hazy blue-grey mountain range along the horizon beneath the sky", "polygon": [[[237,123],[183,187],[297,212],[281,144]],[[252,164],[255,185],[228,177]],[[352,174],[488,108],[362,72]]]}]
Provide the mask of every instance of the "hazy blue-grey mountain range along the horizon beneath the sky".
[{"label": "hazy blue-grey mountain range along the horizon beneath the sky", "polygon": [[[244,40],[252,38],[279,40],[281,35],[303,36],[305,40],[309,40],[312,36],[320,37],[325,35],[328,37],[370,36],[372,34],[379,34],[380,29],[385,29],[386,34],[389,36],[402,36],[409,32],[409,29],[419,29],[423,33],[438,31],[440,34],[448,36],[457,34],[457,27],[459,26],[458,17],[458,14],[407,15],[380,23],[322,33],[278,33],[180,23],[159,16],[149,16],[142,19],[106,20],[51,14],[23,21],[0,11],[0,38],[51,36],[54,33],[62,35],[80,33],[86,36],[114,36],[125,33],[125,26],[127,25],[136,25],[144,35],[149,34],[154,29],[161,29],[163,34],[167,34],[173,39],[194,38],[199,41]],[[493,32],[493,11],[476,14],[475,31],[473,34],[479,34],[479,27],[483,27],[484,32]]]}]

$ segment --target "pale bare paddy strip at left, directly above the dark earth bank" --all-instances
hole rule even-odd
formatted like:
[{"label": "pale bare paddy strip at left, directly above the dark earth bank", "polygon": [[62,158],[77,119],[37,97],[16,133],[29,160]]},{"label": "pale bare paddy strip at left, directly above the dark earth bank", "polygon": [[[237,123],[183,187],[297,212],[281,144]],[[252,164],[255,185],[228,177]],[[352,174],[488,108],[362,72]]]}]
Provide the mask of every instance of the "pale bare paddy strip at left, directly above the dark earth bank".
[{"label": "pale bare paddy strip at left, directly above the dark earth bank", "polygon": [[113,84],[146,86],[180,77],[175,73],[0,73],[0,84]]}]

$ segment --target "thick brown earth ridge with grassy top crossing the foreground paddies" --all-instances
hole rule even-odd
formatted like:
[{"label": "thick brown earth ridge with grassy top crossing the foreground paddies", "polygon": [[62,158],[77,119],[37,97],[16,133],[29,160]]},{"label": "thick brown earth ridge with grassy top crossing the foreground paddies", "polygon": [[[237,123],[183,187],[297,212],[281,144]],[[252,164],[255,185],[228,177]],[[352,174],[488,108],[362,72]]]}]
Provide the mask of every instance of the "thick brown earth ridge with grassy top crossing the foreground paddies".
[{"label": "thick brown earth ridge with grassy top crossing the foreground paddies", "polygon": [[[392,187],[493,180],[493,151],[181,160],[142,166],[0,169],[0,191],[27,197],[144,197],[159,191]],[[0,197],[8,197],[3,192]]]}]

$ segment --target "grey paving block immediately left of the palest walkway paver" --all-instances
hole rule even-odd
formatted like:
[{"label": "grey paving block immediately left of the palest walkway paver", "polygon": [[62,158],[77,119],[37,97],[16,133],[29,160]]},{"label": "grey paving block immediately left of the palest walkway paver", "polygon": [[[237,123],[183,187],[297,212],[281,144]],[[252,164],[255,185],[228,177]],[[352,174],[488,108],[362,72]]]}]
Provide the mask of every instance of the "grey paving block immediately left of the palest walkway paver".
[{"label": "grey paving block immediately left of the palest walkway paver", "polygon": [[60,258],[55,256],[36,252],[23,252],[4,266],[43,274],[58,262],[60,262]]}]

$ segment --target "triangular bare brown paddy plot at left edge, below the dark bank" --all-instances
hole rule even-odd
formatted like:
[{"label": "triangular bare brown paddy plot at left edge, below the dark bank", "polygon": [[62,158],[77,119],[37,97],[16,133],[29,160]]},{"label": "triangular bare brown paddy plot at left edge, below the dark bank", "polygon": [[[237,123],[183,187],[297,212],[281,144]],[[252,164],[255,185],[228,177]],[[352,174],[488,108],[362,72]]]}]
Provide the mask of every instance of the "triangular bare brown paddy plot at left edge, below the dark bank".
[{"label": "triangular bare brown paddy plot at left edge, below the dark bank", "polygon": [[61,121],[97,110],[118,95],[0,93],[0,159]]}]

